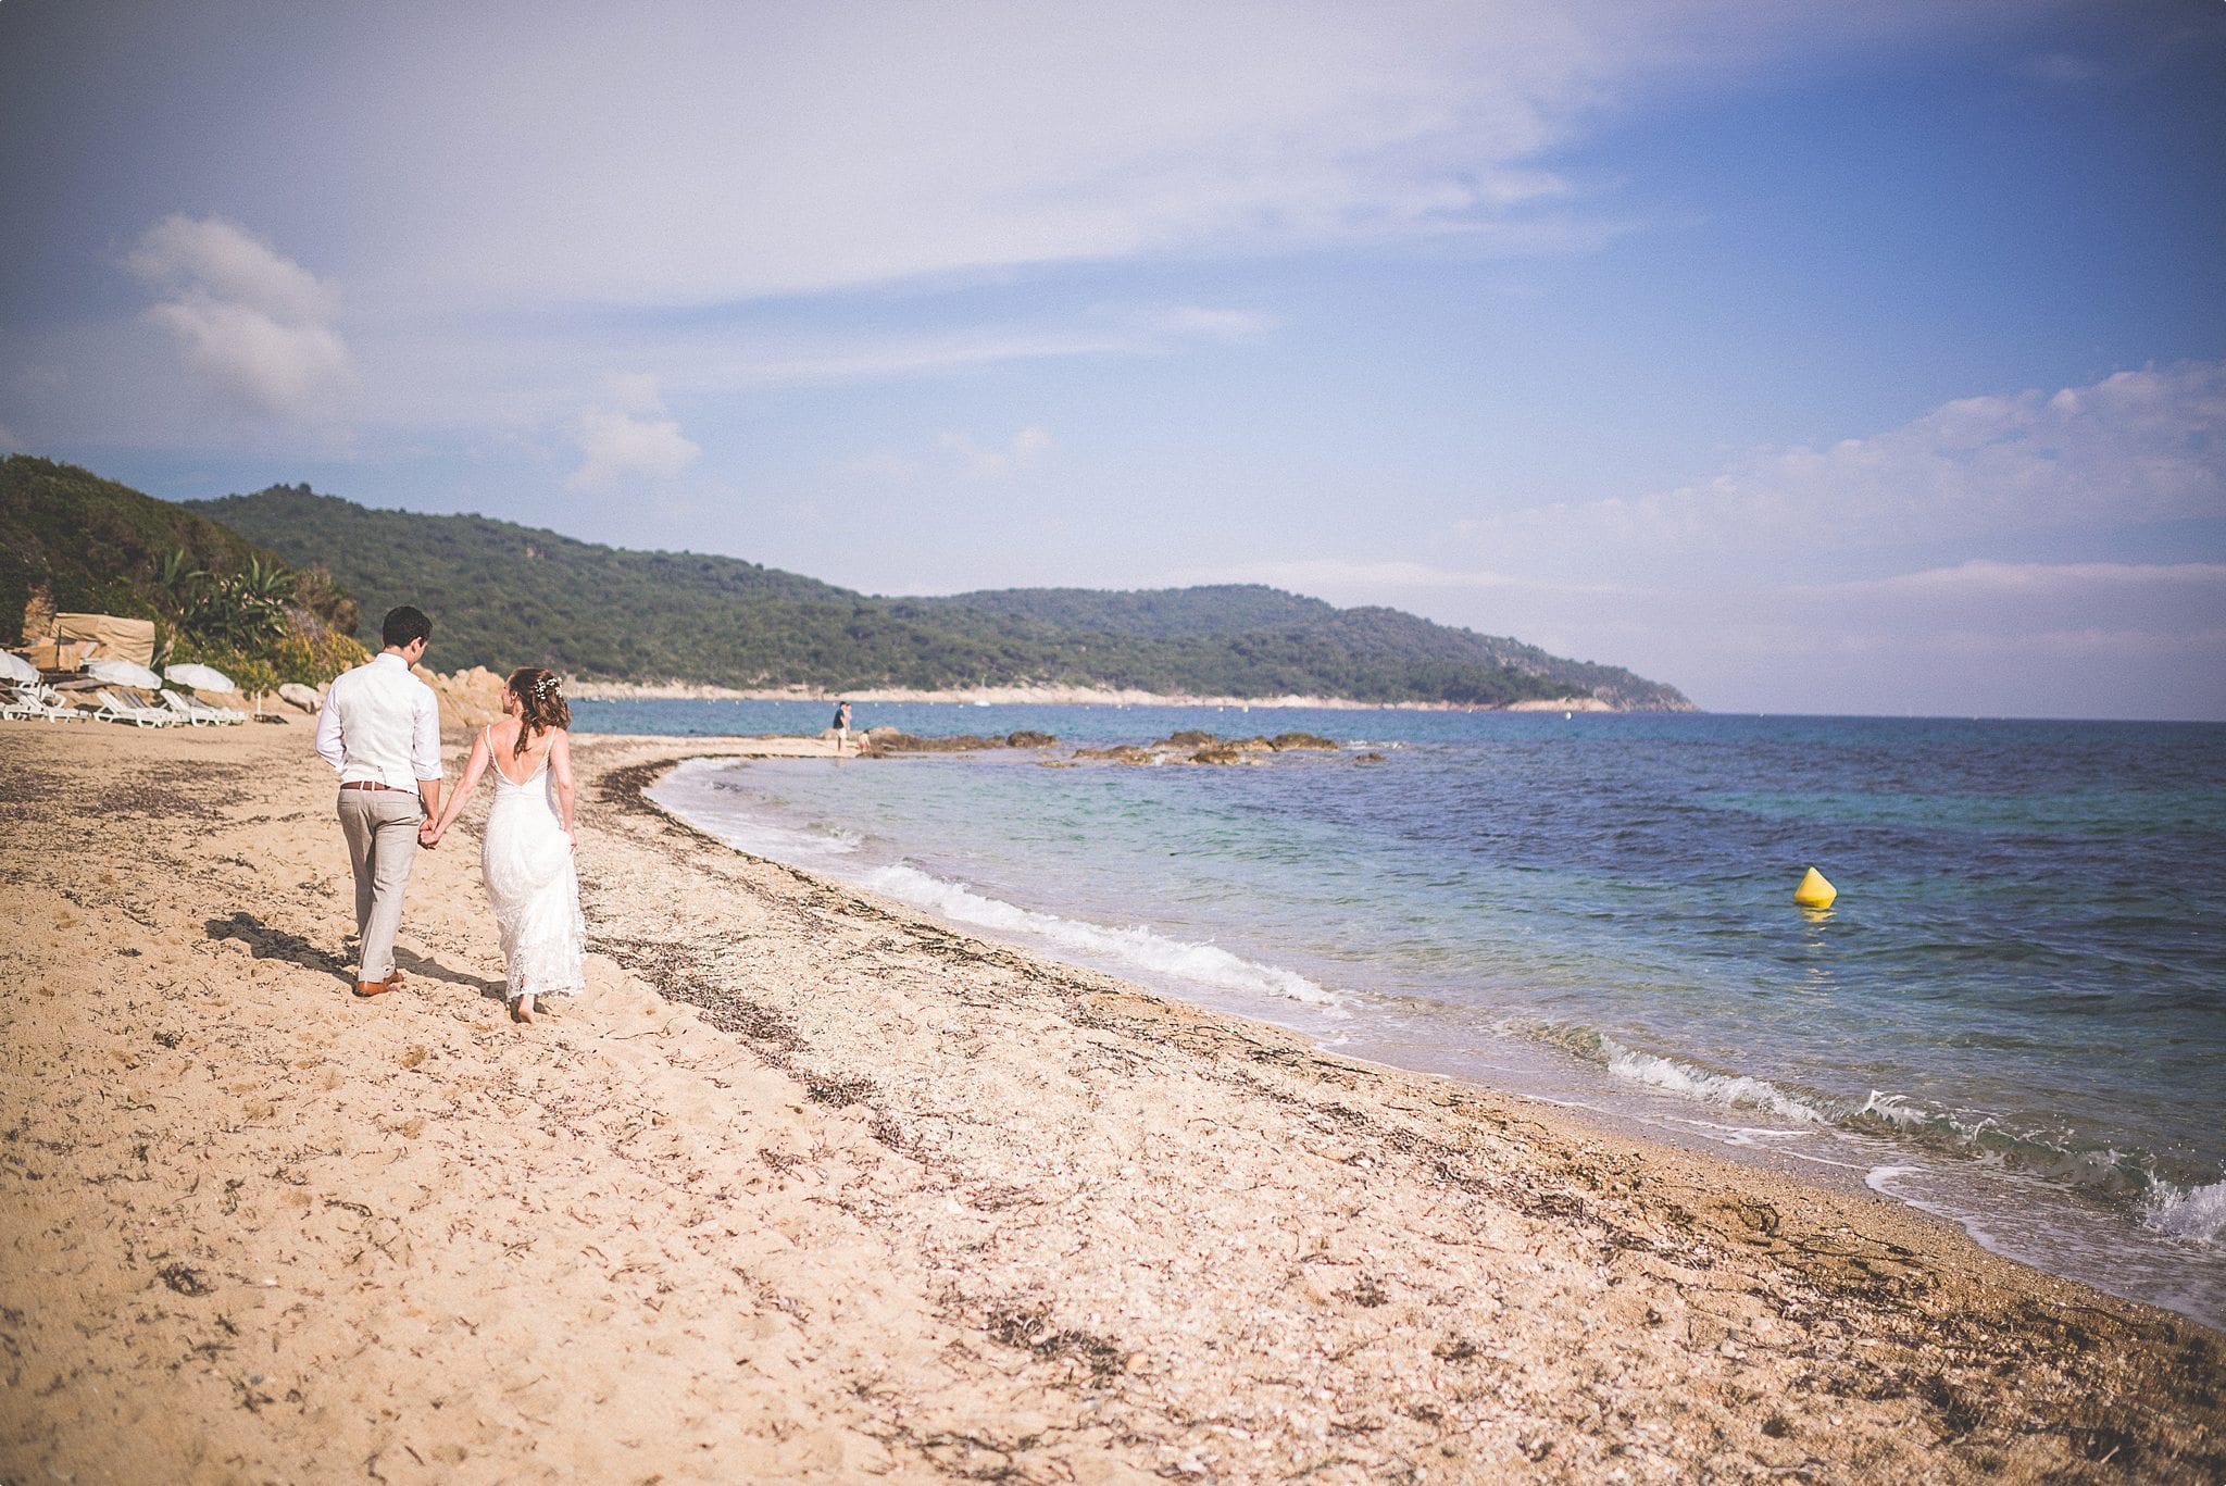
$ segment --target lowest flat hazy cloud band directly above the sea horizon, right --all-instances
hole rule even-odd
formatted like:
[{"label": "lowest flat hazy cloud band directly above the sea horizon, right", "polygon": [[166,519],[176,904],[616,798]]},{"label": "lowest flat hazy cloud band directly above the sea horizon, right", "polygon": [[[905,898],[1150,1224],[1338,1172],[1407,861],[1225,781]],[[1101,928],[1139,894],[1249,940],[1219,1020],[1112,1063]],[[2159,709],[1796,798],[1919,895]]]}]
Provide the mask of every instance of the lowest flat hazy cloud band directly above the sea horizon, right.
[{"label": "lowest flat hazy cloud band directly above the sea horizon, right", "polygon": [[1405,561],[1186,568],[1393,604],[1670,682],[1714,711],[2226,717],[2226,564],[1966,561],[1870,581],[1549,581]]}]

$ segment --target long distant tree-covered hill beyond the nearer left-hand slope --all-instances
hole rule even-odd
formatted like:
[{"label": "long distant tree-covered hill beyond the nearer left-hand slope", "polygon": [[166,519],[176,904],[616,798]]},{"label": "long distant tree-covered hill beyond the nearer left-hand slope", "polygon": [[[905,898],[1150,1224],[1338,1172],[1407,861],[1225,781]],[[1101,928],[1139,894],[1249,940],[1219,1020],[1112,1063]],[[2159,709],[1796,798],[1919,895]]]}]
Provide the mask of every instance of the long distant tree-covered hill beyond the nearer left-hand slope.
[{"label": "long distant tree-covered hill beyond the nearer left-hand slope", "polygon": [[824,691],[1042,684],[1480,706],[1585,693],[1690,706],[1612,666],[1260,586],[886,599],[732,557],[370,510],[307,486],[194,510],[289,561],[327,564],[363,604],[365,630],[394,604],[425,608],[443,668],[543,664],[601,680]]}]

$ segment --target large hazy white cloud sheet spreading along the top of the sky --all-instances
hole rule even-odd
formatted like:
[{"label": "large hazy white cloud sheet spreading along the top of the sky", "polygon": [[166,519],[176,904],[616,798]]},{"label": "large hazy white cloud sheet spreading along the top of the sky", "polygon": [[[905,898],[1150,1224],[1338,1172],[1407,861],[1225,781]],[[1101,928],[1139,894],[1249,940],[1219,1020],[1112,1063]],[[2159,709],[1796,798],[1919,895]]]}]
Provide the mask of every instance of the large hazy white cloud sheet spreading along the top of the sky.
[{"label": "large hazy white cloud sheet spreading along the top of the sky", "polygon": [[[1549,154],[1665,76],[2017,4],[1133,0],[483,4],[365,25],[305,140],[365,272],[470,303],[721,303],[930,274],[1360,241],[1585,252]],[[1943,16],[1941,11],[1952,11]]]}]

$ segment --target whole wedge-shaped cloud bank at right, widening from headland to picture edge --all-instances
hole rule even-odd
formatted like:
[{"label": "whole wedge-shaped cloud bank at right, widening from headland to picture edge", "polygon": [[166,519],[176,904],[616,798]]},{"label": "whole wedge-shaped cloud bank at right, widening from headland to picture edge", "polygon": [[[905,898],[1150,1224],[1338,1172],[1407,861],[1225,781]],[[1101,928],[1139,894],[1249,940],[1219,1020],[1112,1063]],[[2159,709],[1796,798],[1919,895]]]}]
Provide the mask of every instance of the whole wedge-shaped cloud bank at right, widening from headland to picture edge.
[{"label": "whole wedge-shaped cloud bank at right, widening from headland to picture edge", "polygon": [[[1683,686],[1703,706],[2226,717],[2226,564],[2079,557],[2226,517],[2226,365],[1946,403],[1636,501],[1465,524],[1431,561],[1189,568],[1393,604]],[[2064,548],[2006,561],[2003,541]],[[1870,550],[1883,577],[1834,579]],[[1890,570],[1897,550],[1961,550]]]}]

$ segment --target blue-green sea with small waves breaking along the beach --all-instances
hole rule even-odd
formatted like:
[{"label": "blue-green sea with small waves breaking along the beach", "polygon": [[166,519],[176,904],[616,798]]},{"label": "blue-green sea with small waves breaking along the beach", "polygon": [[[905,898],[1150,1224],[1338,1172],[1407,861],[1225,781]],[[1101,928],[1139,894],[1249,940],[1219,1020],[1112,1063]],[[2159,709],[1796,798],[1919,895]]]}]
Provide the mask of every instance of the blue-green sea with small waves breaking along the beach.
[{"label": "blue-green sea with small waves breaking along the beach", "polygon": [[[819,704],[577,704],[817,731]],[[1767,1152],[2226,1326],[2226,726],[859,706],[1060,749],[695,762],[743,851],[1356,1056]],[[1302,729],[1258,766],[1073,744]],[[1382,762],[1358,762],[1376,753]],[[1792,889],[1819,867],[1828,911]]]}]

